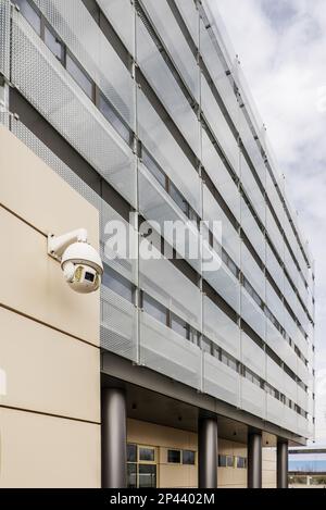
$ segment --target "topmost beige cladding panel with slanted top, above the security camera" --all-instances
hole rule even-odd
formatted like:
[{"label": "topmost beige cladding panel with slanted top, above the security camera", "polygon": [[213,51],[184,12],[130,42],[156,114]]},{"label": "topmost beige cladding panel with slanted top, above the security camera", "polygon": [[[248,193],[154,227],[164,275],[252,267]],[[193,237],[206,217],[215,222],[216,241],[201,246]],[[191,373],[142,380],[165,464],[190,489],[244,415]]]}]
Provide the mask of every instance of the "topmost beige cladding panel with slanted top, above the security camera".
[{"label": "topmost beige cladding panel with slanted top, above the security camera", "polygon": [[85,227],[98,248],[96,208],[4,127],[0,127],[0,203],[45,234]]}]

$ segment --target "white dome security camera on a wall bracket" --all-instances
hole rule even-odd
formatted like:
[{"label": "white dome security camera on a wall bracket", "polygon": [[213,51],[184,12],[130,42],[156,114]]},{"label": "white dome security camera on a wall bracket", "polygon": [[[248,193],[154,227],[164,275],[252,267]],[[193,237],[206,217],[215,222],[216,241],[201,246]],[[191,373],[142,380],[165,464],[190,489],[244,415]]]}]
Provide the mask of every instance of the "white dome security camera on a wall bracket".
[{"label": "white dome security camera on a wall bracket", "polygon": [[61,263],[68,286],[78,294],[99,289],[103,264],[97,250],[87,242],[87,231],[78,231],[54,237],[49,235],[48,253]]}]

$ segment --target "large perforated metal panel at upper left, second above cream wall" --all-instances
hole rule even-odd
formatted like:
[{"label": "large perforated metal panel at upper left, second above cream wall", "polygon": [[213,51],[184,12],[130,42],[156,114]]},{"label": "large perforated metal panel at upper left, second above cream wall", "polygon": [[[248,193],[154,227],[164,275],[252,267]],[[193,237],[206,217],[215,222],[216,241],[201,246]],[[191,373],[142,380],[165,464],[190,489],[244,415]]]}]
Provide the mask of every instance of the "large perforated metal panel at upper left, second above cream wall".
[{"label": "large perforated metal panel at upper left, second above cream wall", "polygon": [[13,12],[12,80],[59,133],[133,206],[131,150],[35,34]]}]

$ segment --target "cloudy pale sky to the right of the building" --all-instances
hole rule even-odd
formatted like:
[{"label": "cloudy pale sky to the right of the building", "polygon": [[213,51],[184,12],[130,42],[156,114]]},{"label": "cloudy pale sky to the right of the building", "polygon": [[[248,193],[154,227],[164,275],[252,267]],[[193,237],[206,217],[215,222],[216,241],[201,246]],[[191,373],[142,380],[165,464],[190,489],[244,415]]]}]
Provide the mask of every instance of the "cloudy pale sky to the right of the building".
[{"label": "cloudy pale sky to the right of the building", "polygon": [[326,1],[210,4],[239,54],[316,261],[316,435],[326,445]]}]

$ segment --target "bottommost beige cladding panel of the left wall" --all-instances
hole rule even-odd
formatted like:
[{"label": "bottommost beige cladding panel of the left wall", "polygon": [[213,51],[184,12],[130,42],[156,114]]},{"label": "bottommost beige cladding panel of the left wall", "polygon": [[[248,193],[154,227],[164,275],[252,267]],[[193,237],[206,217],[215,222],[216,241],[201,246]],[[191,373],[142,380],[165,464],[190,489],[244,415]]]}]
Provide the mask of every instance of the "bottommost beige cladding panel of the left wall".
[{"label": "bottommost beige cladding panel of the left wall", "polygon": [[100,426],[0,408],[0,487],[100,487]]}]

